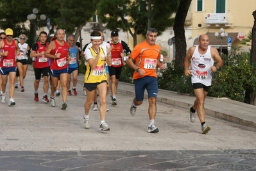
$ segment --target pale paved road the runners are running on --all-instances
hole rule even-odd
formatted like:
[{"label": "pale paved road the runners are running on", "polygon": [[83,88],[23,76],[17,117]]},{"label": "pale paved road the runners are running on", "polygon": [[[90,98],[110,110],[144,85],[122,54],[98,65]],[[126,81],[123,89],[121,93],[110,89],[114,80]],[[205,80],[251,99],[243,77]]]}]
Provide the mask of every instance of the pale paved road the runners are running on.
[{"label": "pale paved road the runners are running on", "polygon": [[256,170],[254,128],[207,117],[212,129],[201,134],[187,110],[158,103],[160,132],[150,134],[148,102],[132,117],[133,97],[117,94],[117,106],[108,101],[110,131],[99,131],[98,111],[90,111],[91,127],[84,129],[82,85],[63,111],[61,97],[55,108],[33,101],[33,79],[29,70],[15,106],[0,104],[0,170]]}]

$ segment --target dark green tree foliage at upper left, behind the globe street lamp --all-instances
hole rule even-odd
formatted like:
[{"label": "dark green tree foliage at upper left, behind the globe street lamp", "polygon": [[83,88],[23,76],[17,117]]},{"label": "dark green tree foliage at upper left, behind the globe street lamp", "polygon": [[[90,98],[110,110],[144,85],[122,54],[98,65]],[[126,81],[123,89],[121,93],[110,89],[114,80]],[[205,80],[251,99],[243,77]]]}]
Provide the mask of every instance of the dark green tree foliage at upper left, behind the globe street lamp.
[{"label": "dark green tree foliage at upper left, behind the globe street lamp", "polygon": [[[82,26],[93,16],[98,1],[67,1],[67,0],[0,0],[0,28],[12,28],[14,37],[28,32],[24,27],[28,14],[38,8],[38,15],[44,13],[51,19],[51,26],[65,29],[67,35],[74,32],[78,39]],[[38,22],[38,26],[46,26],[46,21]],[[80,30],[79,30],[80,29]],[[26,32],[26,34],[28,34]]]}]

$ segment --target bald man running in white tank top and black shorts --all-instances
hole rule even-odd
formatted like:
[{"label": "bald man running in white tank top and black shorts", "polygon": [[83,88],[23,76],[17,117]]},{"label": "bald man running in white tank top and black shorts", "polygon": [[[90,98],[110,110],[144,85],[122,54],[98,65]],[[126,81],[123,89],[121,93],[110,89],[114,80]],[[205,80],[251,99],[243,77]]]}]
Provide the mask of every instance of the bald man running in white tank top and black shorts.
[{"label": "bald man running in white tank top and black shorts", "polygon": [[[205,97],[212,85],[212,72],[216,72],[222,65],[223,61],[219,52],[209,45],[208,35],[201,35],[196,46],[190,47],[184,60],[185,76],[192,76],[191,82],[196,95],[194,105],[189,107],[189,120],[195,122],[196,111],[201,122],[203,134],[210,131],[210,127],[205,124]],[[214,66],[214,60],[217,62]],[[191,69],[189,68],[191,61]]]}]

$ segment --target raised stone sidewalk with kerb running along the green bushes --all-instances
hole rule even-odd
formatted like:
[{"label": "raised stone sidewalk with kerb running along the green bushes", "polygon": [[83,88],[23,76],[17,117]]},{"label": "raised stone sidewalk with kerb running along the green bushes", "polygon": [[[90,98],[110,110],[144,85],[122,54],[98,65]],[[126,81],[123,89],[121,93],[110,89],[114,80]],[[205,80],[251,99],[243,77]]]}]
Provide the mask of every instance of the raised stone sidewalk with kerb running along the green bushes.
[{"label": "raised stone sidewalk with kerb running along the green bushes", "polygon": [[[84,76],[78,76],[78,82],[83,84]],[[135,96],[132,84],[119,82],[117,92],[125,95]],[[146,92],[145,92],[146,93]],[[147,95],[145,94],[145,98]],[[187,109],[194,103],[196,97],[177,94],[167,90],[158,90],[157,102]],[[232,101],[228,98],[207,97],[205,100],[205,113],[210,117],[219,118],[239,124],[256,128],[256,106],[243,102]]]}]

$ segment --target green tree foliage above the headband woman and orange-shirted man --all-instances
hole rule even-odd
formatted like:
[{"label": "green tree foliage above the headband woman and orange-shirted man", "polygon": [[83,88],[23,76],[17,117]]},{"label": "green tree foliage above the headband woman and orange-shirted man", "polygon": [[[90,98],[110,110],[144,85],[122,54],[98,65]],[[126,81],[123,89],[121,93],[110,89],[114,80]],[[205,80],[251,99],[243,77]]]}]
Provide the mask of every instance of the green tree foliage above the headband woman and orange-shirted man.
[{"label": "green tree foliage above the headband woman and orange-shirted man", "polygon": [[[137,35],[146,35],[148,29],[148,10],[145,0],[105,0],[99,1],[98,17],[110,30],[123,29],[133,37],[133,46],[137,45]],[[169,26],[173,26],[171,15],[176,12],[177,0],[152,1],[151,27],[158,35]]]}]

